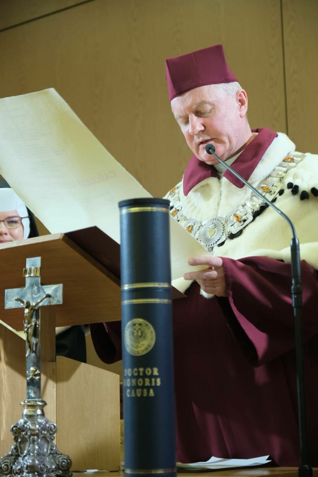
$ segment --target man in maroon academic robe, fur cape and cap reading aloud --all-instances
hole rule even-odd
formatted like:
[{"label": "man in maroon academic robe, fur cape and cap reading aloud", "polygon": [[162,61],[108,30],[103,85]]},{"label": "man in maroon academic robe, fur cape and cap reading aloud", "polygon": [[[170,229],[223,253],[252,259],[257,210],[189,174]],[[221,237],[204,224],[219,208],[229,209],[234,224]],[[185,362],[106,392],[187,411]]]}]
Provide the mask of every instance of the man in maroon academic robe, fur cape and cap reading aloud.
[{"label": "man in maroon academic robe, fur cape and cap reading aloud", "polygon": [[[214,156],[276,201],[301,243],[309,463],[318,466],[318,156],[283,133],[251,130],[247,94],[222,45],[166,61],[172,112],[193,152],[171,189],[171,215],[211,253],[190,259],[174,300],[177,459],[270,455],[300,464],[289,226]],[[120,323],[91,327],[120,359]]]}]

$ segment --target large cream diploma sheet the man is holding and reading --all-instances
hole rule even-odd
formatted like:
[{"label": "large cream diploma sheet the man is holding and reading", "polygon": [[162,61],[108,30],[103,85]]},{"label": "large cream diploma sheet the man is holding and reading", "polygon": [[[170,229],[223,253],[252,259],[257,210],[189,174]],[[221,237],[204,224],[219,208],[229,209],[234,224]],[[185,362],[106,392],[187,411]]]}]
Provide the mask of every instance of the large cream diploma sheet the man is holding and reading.
[{"label": "large cream diploma sheet the man is holding and reading", "polygon": [[[120,241],[118,202],[151,197],[54,89],[0,99],[0,174],[51,233],[98,226]],[[170,217],[172,280],[209,255]]]}]

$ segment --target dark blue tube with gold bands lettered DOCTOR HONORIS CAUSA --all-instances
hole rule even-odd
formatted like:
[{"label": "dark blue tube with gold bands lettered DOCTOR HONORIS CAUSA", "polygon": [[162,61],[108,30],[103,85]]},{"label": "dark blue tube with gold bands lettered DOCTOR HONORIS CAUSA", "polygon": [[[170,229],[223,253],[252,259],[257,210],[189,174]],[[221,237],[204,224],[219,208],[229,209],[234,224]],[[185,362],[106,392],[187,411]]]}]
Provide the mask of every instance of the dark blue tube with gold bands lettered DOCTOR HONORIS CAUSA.
[{"label": "dark blue tube with gold bands lettered DOCTOR HONORIS CAUSA", "polygon": [[176,476],[169,207],[119,202],[127,477]]}]

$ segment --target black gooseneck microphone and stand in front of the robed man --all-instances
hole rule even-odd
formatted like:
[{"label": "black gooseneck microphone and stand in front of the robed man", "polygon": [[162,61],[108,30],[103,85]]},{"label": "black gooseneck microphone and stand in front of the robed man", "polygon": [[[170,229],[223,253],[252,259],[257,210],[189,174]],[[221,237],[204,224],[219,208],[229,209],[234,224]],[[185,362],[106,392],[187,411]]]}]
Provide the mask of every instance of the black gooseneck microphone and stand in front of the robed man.
[{"label": "black gooseneck microphone and stand in front of the robed man", "polygon": [[272,207],[279,215],[287,220],[293,238],[290,243],[291,250],[291,277],[292,286],[291,294],[293,300],[294,311],[294,323],[295,323],[295,352],[296,352],[296,371],[297,371],[297,399],[298,399],[298,420],[299,420],[299,442],[300,442],[300,455],[301,464],[298,468],[299,477],[312,477],[312,468],[308,465],[308,437],[307,437],[307,419],[306,419],[306,399],[305,399],[305,383],[304,383],[304,342],[303,342],[303,326],[301,321],[301,308],[302,308],[302,286],[301,286],[301,271],[300,271],[300,254],[299,254],[299,241],[296,235],[296,229],[294,224],[282,212],[276,207],[270,200],[263,196],[255,187],[241,177],[237,172],[228,166],[226,162],[222,161],[219,156],[215,154],[215,146],[213,144],[207,144],[205,146],[207,154],[214,156],[220,164],[231,171],[241,182],[249,187],[253,192],[261,197],[270,207]]}]

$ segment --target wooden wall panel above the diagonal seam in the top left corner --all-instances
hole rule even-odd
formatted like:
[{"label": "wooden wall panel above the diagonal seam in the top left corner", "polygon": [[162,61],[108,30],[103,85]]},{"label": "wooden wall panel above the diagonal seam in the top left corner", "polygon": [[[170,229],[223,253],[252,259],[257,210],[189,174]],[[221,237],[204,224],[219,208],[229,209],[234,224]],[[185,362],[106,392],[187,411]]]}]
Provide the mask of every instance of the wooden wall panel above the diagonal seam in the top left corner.
[{"label": "wooden wall panel above the diagonal seam in the top left corner", "polygon": [[0,0],[0,30],[72,7],[85,0]]}]

